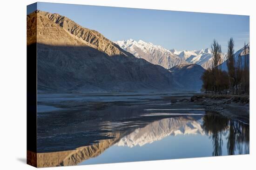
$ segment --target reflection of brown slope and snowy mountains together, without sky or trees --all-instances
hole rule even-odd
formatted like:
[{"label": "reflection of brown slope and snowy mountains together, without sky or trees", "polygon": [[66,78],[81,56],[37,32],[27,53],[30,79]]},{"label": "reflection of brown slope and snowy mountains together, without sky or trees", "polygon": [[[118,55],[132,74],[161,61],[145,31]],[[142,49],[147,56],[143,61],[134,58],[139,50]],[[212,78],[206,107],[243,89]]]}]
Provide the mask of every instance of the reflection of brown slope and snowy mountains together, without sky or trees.
[{"label": "reflection of brown slope and snowy mountains together, without sky or trees", "polygon": [[38,167],[76,165],[84,160],[97,157],[109,147],[116,146],[143,146],[161,140],[169,135],[202,134],[202,119],[195,116],[173,117],[156,120],[148,125],[135,128],[132,132],[108,132],[106,135],[115,136],[113,139],[101,140],[93,145],[81,146],[75,150],[37,153]]}]

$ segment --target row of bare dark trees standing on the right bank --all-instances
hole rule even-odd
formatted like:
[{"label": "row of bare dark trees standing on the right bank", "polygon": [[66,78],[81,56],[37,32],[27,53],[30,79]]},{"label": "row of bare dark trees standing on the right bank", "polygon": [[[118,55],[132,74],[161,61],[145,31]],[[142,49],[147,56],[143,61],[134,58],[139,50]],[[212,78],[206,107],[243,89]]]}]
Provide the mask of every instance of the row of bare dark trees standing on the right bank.
[{"label": "row of bare dark trees standing on the right bank", "polygon": [[243,51],[235,58],[234,40],[229,39],[227,52],[228,72],[222,70],[222,49],[216,40],[211,45],[213,54],[212,66],[207,69],[201,79],[205,93],[249,94],[249,47],[244,44]]}]

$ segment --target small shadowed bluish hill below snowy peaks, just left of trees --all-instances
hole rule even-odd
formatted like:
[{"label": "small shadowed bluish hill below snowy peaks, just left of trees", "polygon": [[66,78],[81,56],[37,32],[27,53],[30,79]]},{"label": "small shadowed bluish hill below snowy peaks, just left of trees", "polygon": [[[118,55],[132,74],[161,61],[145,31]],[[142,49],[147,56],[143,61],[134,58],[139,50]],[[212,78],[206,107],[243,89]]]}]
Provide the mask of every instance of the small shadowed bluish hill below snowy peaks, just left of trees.
[{"label": "small shadowed bluish hill below snowy peaks, just left of trees", "polygon": [[175,83],[181,89],[200,91],[202,88],[201,76],[205,69],[197,64],[182,64],[169,69]]}]

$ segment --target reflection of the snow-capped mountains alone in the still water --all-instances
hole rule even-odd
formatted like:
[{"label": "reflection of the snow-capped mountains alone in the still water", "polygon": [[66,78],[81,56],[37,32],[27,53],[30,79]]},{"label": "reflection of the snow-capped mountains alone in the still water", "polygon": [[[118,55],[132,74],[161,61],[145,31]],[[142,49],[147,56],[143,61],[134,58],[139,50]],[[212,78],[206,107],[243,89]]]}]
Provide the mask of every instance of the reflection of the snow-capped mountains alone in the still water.
[{"label": "reflection of the snow-capped mountains alone in the still water", "polygon": [[121,138],[115,145],[128,147],[142,146],[161,140],[169,135],[175,136],[177,134],[207,135],[201,124],[201,119],[196,120],[190,116],[162,119],[136,129],[134,132]]}]

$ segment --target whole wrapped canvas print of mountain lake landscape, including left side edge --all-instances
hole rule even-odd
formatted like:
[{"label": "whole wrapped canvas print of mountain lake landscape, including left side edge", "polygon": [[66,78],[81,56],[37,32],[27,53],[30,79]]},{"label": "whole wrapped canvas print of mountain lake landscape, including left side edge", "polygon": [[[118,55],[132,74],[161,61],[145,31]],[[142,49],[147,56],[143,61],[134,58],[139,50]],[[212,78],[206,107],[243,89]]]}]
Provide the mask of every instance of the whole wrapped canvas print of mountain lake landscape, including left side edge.
[{"label": "whole wrapped canvas print of mountain lake landscape, including left side edge", "polygon": [[27,164],[241,154],[249,16],[27,6]]}]

